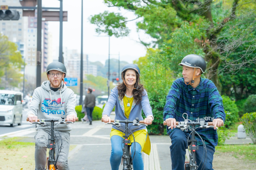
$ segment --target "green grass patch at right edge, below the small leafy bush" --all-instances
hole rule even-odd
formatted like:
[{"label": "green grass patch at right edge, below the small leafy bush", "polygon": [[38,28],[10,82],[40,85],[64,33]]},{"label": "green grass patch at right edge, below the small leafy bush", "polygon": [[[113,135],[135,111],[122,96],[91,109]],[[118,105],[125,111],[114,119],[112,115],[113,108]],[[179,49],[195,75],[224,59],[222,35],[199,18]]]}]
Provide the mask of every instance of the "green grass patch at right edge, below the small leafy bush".
[{"label": "green grass patch at right edge, below the small leafy bush", "polygon": [[254,144],[222,145],[216,146],[215,149],[222,153],[229,152],[235,158],[244,158],[256,163],[256,145]]}]

